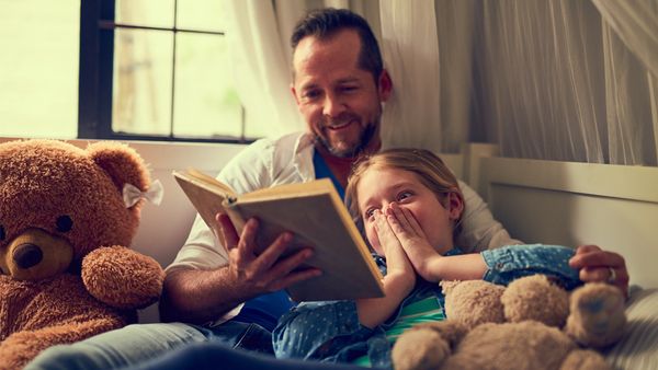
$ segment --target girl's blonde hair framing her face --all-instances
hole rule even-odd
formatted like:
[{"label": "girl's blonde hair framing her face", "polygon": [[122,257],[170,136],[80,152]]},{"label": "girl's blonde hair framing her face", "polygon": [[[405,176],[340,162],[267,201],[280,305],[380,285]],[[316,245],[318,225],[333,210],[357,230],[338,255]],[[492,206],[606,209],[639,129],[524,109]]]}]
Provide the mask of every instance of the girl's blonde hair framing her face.
[{"label": "girl's blonde hair framing her face", "polygon": [[[352,219],[363,230],[363,220],[361,218],[361,210],[359,209],[359,195],[356,194],[356,187],[359,182],[363,178],[363,175],[368,170],[402,170],[411,172],[418,176],[418,180],[429,188],[442,205],[446,199],[449,193],[455,193],[462,203],[464,203],[464,195],[460,189],[457,177],[450,171],[445,163],[436,154],[424,149],[389,149],[378,152],[373,155],[362,158],[352,167],[352,173],[348,178],[348,187],[345,188],[345,205],[350,210]],[[465,206],[465,204],[464,204]],[[462,211],[464,215],[464,211]],[[456,236],[460,231],[461,218],[455,222]]]}]

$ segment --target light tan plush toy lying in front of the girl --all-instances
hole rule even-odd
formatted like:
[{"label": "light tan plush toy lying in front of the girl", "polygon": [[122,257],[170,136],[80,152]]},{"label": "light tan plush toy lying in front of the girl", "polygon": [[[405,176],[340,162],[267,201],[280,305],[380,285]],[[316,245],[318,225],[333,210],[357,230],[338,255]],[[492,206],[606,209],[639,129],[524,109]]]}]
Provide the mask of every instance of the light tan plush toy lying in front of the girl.
[{"label": "light tan plush toy lying in front of the girl", "polygon": [[446,321],[404,333],[396,370],[609,369],[588,347],[617,342],[626,323],[622,292],[587,284],[569,294],[546,276],[504,288],[481,280],[442,284]]}]

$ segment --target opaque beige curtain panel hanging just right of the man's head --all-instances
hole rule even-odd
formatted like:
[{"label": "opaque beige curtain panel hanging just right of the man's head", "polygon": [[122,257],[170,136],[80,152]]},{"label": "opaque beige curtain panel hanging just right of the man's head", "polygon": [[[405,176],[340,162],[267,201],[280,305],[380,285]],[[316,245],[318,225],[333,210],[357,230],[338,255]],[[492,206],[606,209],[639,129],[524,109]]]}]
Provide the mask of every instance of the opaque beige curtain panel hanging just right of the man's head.
[{"label": "opaque beige curtain panel hanging just right of the man's head", "polygon": [[382,49],[394,91],[389,147],[457,151],[468,140],[474,1],[382,1]]}]

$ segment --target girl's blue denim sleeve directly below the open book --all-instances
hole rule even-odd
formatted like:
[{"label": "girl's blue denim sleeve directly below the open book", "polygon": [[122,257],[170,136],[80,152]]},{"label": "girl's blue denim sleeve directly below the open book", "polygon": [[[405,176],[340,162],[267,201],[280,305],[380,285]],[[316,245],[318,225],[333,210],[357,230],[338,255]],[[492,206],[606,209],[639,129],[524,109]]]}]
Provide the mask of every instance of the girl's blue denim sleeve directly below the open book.
[{"label": "girl's blue denim sleeve directly below the open book", "polygon": [[354,301],[304,302],[279,320],[272,344],[277,358],[330,360],[372,334]]}]

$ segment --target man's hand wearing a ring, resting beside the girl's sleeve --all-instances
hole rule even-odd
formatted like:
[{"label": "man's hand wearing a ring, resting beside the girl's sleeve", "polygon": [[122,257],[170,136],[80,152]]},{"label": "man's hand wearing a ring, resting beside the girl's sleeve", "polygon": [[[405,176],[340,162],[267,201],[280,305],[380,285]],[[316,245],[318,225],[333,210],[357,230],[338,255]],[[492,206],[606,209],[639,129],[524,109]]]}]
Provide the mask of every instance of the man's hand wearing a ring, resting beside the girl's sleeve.
[{"label": "man's hand wearing a ring, resting beside the girl's sleeve", "polygon": [[602,251],[597,245],[580,245],[569,259],[569,266],[580,269],[580,280],[610,282],[628,297],[628,270],[620,254]]}]

